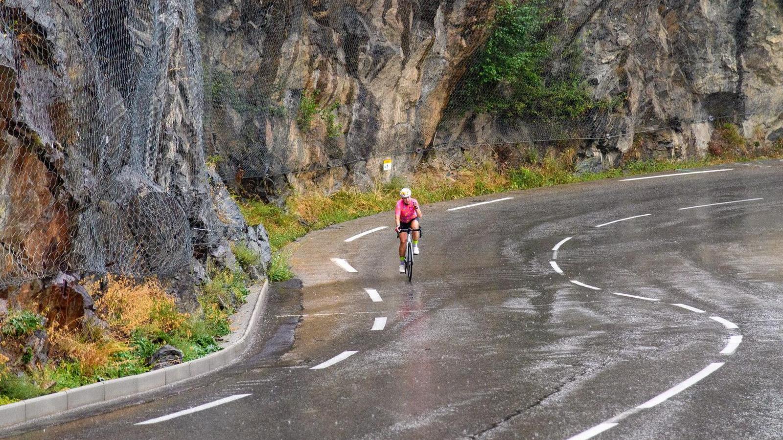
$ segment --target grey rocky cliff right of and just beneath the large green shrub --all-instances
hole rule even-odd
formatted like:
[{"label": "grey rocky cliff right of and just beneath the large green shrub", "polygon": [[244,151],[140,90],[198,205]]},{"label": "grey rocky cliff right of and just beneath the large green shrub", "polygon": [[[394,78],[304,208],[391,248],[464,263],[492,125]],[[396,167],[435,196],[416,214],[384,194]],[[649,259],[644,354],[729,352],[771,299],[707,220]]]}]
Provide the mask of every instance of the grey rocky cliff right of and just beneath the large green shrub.
[{"label": "grey rocky cliff right of and just beneath the large green shrub", "polygon": [[[576,45],[596,99],[622,96],[612,114],[580,121],[584,168],[616,166],[636,143],[645,157],[707,152],[720,123],[756,142],[783,136],[783,3],[568,1],[552,30]],[[540,121],[536,121],[540,122]],[[444,121],[446,144],[535,140],[535,123],[470,114]],[[610,139],[600,139],[606,135]]]}]

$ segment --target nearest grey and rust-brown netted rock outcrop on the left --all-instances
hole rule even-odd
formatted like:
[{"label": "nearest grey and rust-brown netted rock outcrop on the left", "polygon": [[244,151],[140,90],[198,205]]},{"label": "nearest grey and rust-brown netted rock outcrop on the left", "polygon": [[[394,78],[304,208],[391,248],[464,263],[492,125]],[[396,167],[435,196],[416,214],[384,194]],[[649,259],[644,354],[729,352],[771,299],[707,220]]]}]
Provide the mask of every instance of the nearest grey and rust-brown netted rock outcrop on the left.
[{"label": "nearest grey and rust-brown netted rock outcrop on the left", "polygon": [[268,248],[204,164],[192,0],[6,0],[0,24],[0,298],[113,272],[187,301],[215,248]]}]

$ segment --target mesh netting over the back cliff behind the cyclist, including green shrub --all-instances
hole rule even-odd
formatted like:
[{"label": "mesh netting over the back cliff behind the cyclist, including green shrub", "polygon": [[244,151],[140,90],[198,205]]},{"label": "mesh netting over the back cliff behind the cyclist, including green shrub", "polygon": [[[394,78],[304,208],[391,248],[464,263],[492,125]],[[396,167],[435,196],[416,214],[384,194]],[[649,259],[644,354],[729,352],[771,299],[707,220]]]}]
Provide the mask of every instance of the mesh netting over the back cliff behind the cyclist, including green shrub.
[{"label": "mesh netting over the back cliff behind the cyclist, including green shrub", "polygon": [[384,158],[570,142],[617,164],[644,139],[687,157],[726,122],[778,128],[779,97],[745,96],[758,14],[615,3],[206,0],[207,151],[223,179],[273,191]]}]

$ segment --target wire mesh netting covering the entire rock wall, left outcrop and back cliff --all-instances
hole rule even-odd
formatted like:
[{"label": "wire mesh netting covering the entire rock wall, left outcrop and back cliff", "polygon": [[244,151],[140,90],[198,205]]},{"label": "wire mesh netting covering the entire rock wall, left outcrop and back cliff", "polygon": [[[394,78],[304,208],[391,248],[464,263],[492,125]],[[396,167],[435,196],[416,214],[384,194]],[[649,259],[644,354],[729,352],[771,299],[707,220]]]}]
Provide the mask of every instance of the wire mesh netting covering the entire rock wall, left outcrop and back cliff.
[{"label": "wire mesh netting covering the entire rock wall, left outcrop and back cliff", "polygon": [[780,7],[697,3],[5,0],[0,287],[185,270],[204,151],[274,192],[498,146],[687,156],[726,121],[780,138]]}]

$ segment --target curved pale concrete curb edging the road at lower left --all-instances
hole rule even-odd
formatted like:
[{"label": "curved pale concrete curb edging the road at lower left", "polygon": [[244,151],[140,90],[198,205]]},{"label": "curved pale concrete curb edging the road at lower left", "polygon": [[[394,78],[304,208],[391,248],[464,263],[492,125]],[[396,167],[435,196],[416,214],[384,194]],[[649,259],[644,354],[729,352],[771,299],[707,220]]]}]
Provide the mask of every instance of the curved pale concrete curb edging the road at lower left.
[{"label": "curved pale concrete curb edging the road at lower left", "polygon": [[2,405],[0,406],[0,428],[23,424],[40,417],[62,413],[68,409],[108,402],[113,399],[135,395],[139,392],[161,388],[229,365],[245,351],[245,348],[250,343],[251,330],[258,322],[258,315],[263,307],[268,290],[269,281],[265,281],[255,301],[255,306],[244,334],[236,342],[226,346],[221,351],[206,355],[200,359],[193,359],[179,365],[162,368],[161,370],[105,380],[97,384],[85,385],[84,387],[43,395],[35,399]]}]

